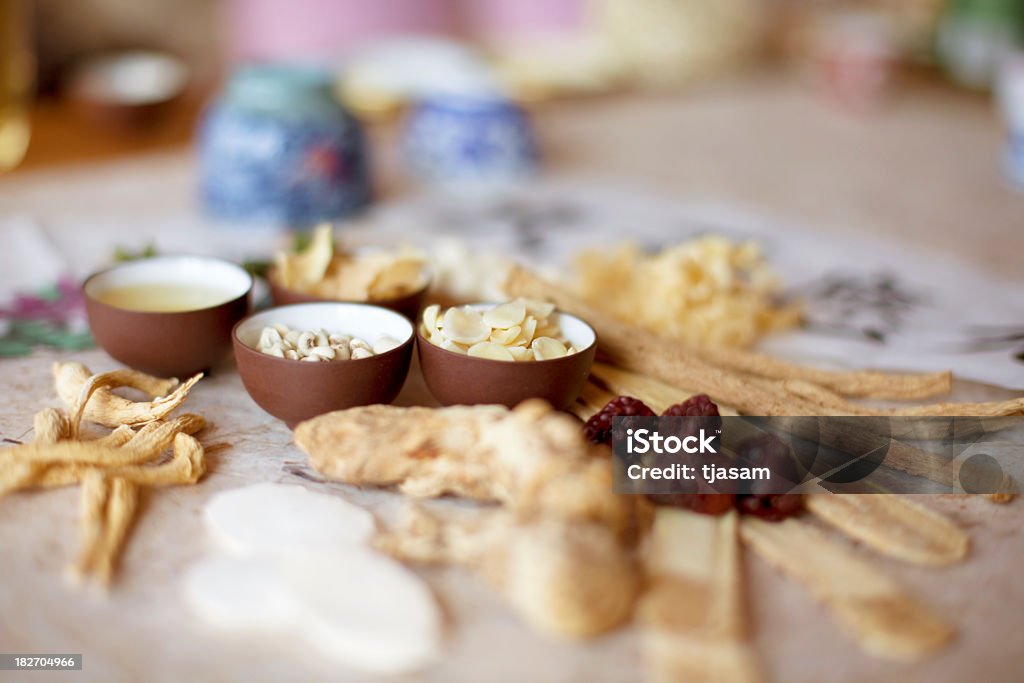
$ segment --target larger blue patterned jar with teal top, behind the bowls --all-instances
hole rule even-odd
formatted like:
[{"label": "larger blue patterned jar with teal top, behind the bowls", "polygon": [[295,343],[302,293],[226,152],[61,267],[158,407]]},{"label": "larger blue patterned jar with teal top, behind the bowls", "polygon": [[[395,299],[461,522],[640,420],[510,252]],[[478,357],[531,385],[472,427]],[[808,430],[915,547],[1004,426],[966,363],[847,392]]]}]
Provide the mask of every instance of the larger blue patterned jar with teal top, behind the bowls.
[{"label": "larger blue patterned jar with teal top, behind the bowls", "polygon": [[199,157],[203,204],[216,218],[301,227],[370,202],[362,130],[318,70],[240,70],[206,114]]}]

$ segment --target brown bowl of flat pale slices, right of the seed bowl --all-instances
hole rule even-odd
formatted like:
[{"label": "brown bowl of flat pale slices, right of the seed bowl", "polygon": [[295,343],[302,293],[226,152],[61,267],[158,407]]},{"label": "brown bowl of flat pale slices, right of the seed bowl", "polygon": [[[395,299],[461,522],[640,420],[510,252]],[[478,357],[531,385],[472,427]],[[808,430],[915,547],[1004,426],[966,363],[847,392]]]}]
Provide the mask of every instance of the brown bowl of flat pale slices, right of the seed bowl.
[{"label": "brown bowl of flat pale slices, right of the seed bowl", "polygon": [[527,398],[544,398],[558,410],[567,409],[580,395],[594,364],[597,334],[574,315],[556,315],[562,334],[580,350],[561,358],[520,362],[447,351],[427,341],[417,325],[420,369],[430,393],[445,405],[498,403],[512,408]]}]

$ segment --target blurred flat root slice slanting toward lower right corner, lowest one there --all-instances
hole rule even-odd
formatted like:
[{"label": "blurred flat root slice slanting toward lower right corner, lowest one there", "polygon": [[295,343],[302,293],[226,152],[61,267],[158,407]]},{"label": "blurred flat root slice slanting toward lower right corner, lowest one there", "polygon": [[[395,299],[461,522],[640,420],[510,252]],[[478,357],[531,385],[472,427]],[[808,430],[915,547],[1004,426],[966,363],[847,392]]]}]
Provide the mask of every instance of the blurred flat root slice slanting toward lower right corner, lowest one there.
[{"label": "blurred flat root slice slanting toward lower right corner, lowest one there", "polygon": [[951,627],[859,556],[806,522],[745,518],[743,542],[800,582],[865,651],[889,659],[921,659],[945,645]]}]

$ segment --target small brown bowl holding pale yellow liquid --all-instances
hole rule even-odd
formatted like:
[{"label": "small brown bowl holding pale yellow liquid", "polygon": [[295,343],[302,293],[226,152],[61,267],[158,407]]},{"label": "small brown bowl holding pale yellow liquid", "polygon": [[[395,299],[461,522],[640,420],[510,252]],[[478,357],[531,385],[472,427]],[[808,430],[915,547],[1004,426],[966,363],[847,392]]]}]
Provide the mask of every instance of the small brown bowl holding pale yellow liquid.
[{"label": "small brown bowl holding pale yellow liquid", "polygon": [[[222,291],[219,303],[194,310],[154,311],[102,302],[122,287],[201,286]],[[115,359],[159,377],[187,377],[217,365],[231,347],[231,328],[249,312],[253,279],[228,261],[158,256],[90,275],[82,286],[89,328]]]}]

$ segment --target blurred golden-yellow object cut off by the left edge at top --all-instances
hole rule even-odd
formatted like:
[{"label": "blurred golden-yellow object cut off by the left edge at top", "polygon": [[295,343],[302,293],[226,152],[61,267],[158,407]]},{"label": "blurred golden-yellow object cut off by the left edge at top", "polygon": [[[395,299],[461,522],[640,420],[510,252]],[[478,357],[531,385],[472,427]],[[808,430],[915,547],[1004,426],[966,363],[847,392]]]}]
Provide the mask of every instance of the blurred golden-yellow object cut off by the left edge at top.
[{"label": "blurred golden-yellow object cut off by the left edge at top", "polygon": [[29,146],[34,60],[28,0],[0,0],[0,172],[20,163]]}]

